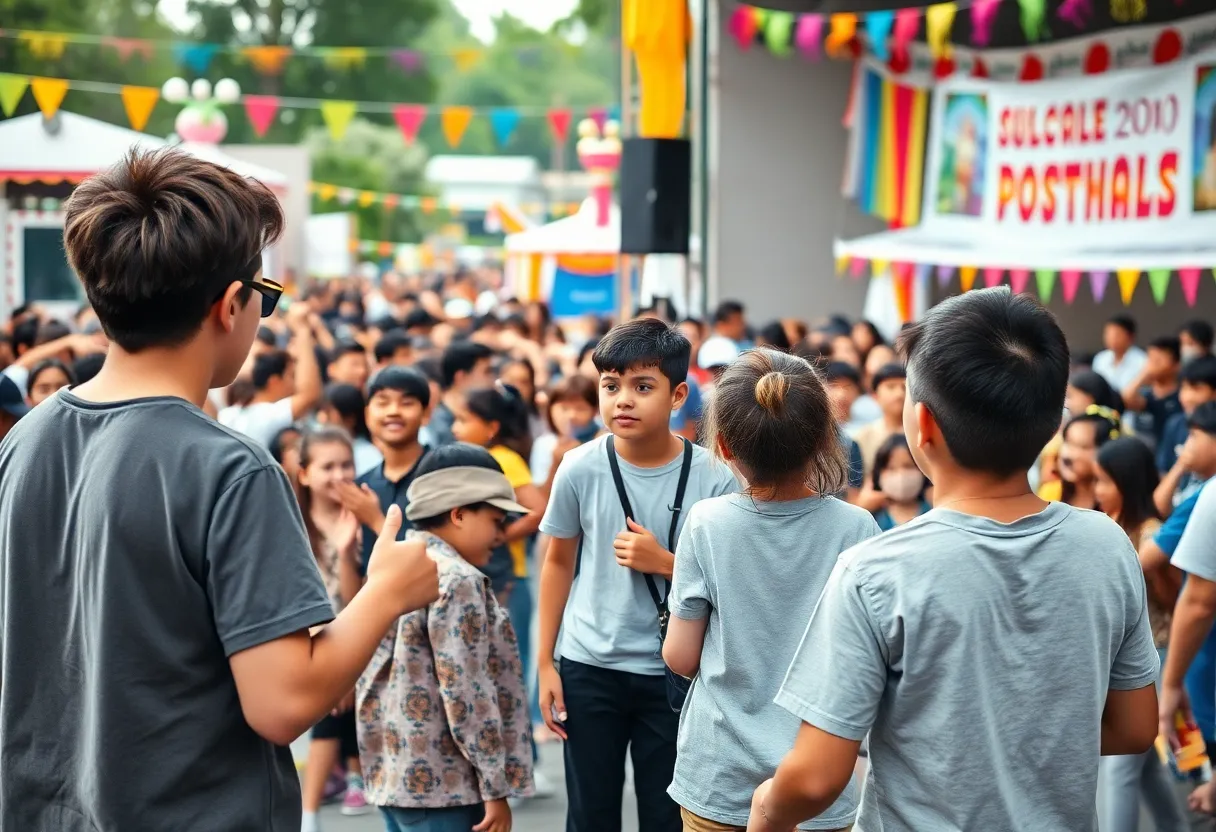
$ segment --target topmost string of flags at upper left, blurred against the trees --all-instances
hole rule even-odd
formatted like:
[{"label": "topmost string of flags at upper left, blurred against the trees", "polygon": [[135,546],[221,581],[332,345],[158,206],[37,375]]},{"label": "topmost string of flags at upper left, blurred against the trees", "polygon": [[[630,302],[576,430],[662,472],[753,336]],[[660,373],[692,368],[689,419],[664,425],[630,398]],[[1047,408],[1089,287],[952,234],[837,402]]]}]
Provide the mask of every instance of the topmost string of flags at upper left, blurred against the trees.
[{"label": "topmost string of flags at upper left, blurred against the trees", "polygon": [[[184,68],[206,74],[218,55],[235,55],[248,62],[261,75],[278,75],[291,58],[320,60],[337,71],[361,68],[368,60],[383,60],[405,74],[421,72],[428,61],[446,58],[460,73],[472,72],[482,62],[488,49],[484,46],[457,46],[444,51],[405,49],[399,46],[291,46],[208,44],[188,40],[158,38],[118,38],[111,35],[81,34],[74,32],[44,32],[35,29],[0,29],[0,39],[19,43],[38,58],[56,61],[63,57],[68,46],[86,46],[112,50],[123,63],[133,57],[151,61],[158,52],[169,52]],[[563,44],[570,54],[578,51],[574,44]],[[516,60],[523,66],[539,66],[546,46],[519,46]]]}]

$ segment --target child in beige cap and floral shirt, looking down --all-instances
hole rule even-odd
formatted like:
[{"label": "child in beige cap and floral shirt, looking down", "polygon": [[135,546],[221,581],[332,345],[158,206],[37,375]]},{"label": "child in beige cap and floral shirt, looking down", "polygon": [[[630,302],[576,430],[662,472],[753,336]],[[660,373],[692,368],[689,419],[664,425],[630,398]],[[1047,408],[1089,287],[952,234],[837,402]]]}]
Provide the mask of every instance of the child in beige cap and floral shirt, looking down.
[{"label": "child in beige cap and floral shirt, looking down", "polygon": [[445,445],[418,463],[407,539],[438,564],[439,598],[398,619],[355,699],[367,799],[389,832],[510,832],[507,800],[533,792],[516,634],[480,572],[507,516],[527,512],[483,448]]}]

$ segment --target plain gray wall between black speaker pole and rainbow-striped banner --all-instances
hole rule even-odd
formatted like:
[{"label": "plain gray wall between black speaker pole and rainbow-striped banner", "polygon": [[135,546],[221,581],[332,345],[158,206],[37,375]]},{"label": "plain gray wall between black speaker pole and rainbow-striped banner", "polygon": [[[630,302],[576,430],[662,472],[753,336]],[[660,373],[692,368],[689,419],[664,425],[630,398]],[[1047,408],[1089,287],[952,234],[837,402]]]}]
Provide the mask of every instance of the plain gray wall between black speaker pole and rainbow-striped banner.
[{"label": "plain gray wall between black speaker pole and rainbow-striped banner", "polygon": [[[728,9],[717,10],[725,19]],[[721,23],[711,22],[719,27]],[[747,52],[721,33],[710,75],[710,305],[742,300],[748,317],[861,314],[866,281],[837,279],[835,237],[883,229],[840,196],[841,125],[852,64]]]}]

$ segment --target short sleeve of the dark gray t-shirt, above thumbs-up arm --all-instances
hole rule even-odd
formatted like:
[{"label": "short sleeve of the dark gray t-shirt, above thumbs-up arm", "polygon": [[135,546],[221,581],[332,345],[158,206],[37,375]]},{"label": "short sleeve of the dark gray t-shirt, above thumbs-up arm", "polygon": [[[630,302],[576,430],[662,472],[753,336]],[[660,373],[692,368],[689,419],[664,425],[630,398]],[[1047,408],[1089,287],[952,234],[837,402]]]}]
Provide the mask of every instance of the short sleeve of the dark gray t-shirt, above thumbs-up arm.
[{"label": "short sleeve of the dark gray t-shirt, above thumbs-up arm", "polygon": [[207,535],[207,595],[226,656],[333,618],[287,476],[244,474],[220,495]]}]

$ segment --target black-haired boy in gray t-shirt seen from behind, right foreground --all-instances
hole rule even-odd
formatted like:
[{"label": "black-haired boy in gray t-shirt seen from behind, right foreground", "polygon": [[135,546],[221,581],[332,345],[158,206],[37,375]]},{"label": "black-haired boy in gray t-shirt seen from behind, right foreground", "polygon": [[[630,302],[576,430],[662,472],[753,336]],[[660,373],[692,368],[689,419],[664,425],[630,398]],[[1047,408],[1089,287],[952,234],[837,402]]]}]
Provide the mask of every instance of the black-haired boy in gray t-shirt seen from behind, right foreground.
[{"label": "black-haired boy in gray t-shirt seen from behind, right foreground", "polygon": [[803,725],[750,832],[832,804],[869,735],[857,832],[1097,830],[1099,754],[1156,737],[1159,659],[1122,530],[1043,504],[1069,354],[1036,300],[951,298],[902,338],[936,508],[841,555],[777,704]]}]

